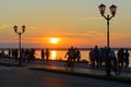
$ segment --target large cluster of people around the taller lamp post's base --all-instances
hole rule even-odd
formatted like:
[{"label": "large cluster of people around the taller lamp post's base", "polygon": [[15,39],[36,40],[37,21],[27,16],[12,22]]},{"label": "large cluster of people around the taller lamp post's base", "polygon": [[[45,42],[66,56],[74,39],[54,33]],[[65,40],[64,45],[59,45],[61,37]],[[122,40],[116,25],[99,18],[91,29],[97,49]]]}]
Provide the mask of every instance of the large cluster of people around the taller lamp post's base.
[{"label": "large cluster of people around the taller lamp post's base", "polygon": [[114,66],[120,65],[121,67],[128,67],[129,66],[129,57],[130,53],[128,49],[119,49],[116,53],[114,49],[111,48],[98,48],[95,46],[94,49],[91,49],[90,51],[90,61],[92,67],[99,67],[103,64],[107,65],[108,63],[111,63]]}]

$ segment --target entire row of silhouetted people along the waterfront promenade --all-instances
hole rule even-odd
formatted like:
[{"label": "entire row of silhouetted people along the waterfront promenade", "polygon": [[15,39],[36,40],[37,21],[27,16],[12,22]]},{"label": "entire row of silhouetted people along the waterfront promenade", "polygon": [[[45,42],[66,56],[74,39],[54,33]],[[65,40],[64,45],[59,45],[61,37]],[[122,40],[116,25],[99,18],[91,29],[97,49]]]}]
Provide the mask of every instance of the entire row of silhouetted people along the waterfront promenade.
[{"label": "entire row of silhouetted people along the waterfront promenade", "polygon": [[[21,50],[21,58],[23,62],[31,62],[36,59],[36,53],[35,49],[22,49]],[[9,59],[14,59],[15,61],[19,61],[19,49],[12,49],[8,50],[8,53],[4,52],[4,50],[0,51],[0,58],[9,58]],[[50,51],[49,49],[41,49],[40,50],[40,58],[43,61],[49,60],[50,57]],[[92,67],[99,67],[103,65],[107,64],[107,61],[109,60],[114,66],[119,64],[120,66],[128,67],[129,66],[129,57],[130,53],[128,49],[119,49],[117,53],[115,52],[114,49],[109,48],[109,59],[108,59],[108,49],[105,48],[98,48],[95,46],[94,48],[91,49],[90,51],[90,64]],[[71,47],[67,51],[64,58],[67,58],[67,61],[78,61],[80,62],[81,60],[81,51],[78,48]]]}]

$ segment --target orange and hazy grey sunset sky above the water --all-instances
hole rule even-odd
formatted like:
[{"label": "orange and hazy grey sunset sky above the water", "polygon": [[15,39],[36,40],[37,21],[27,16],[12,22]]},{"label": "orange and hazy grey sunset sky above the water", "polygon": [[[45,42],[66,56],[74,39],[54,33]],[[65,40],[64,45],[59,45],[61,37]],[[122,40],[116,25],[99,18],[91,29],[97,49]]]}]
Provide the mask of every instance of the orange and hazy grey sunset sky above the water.
[{"label": "orange and hazy grey sunset sky above the water", "polygon": [[[98,5],[117,5],[110,20],[110,47],[131,47],[131,0],[0,0],[0,48],[17,48],[22,25],[23,48],[105,47],[107,45],[106,20]],[[50,39],[57,38],[57,42]]]}]

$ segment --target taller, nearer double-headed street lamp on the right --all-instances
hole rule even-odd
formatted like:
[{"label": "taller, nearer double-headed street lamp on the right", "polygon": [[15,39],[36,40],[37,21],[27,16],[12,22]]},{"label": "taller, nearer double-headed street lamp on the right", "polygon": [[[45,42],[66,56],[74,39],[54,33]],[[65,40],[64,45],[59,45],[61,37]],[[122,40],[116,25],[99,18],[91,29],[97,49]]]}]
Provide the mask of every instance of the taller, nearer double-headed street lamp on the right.
[{"label": "taller, nearer double-headed street lamp on the right", "polygon": [[99,9],[99,12],[102,14],[103,17],[105,17],[105,20],[107,21],[107,51],[108,51],[108,55],[107,55],[107,75],[110,75],[110,67],[109,67],[109,64],[110,64],[110,60],[109,60],[109,21],[115,17],[116,15],[116,11],[117,11],[117,7],[116,5],[111,5],[109,9],[110,9],[110,13],[111,13],[111,16],[109,15],[105,15],[105,10],[106,10],[106,5],[105,4],[100,4],[98,7]]}]

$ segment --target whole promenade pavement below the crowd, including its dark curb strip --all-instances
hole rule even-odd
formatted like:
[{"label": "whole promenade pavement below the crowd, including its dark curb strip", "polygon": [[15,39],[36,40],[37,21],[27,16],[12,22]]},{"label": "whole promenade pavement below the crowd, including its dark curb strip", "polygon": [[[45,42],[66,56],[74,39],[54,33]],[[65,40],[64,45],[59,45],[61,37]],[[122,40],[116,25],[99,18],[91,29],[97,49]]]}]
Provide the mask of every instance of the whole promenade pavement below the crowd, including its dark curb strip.
[{"label": "whole promenade pavement below the crowd, including its dark curb strip", "polygon": [[[17,62],[12,60],[0,60],[0,65],[17,66]],[[92,77],[97,79],[131,84],[131,69],[122,70],[122,73],[118,76],[115,75],[114,72],[111,72],[111,76],[106,76],[104,67],[91,69],[87,63],[75,63],[74,71],[66,70],[64,62],[60,61],[34,61],[31,63],[23,63],[23,66],[37,71],[47,71],[59,74],[68,74],[73,76]]]}]

